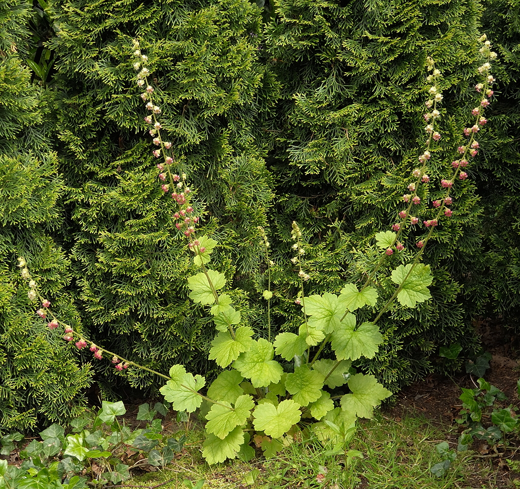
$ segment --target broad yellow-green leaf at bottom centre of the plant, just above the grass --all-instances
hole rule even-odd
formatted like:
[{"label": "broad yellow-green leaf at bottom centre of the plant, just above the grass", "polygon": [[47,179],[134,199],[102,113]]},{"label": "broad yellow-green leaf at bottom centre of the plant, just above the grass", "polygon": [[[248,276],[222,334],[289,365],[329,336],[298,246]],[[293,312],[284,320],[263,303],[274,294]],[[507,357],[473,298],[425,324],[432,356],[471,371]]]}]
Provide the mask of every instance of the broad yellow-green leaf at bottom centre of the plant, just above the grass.
[{"label": "broad yellow-green leaf at bottom centre of the plant, just above the grass", "polygon": [[255,429],[273,438],[279,438],[289,431],[302,417],[300,406],[292,399],[282,400],[277,407],[272,404],[259,404],[253,414]]}]

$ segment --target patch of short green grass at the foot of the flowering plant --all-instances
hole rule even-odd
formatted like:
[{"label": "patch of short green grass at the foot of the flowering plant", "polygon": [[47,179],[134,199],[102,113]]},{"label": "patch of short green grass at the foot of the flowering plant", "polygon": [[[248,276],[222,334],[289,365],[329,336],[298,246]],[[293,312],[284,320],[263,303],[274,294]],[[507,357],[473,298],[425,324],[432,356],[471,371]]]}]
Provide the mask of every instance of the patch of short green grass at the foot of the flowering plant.
[{"label": "patch of short green grass at the foot of the flowering plant", "polygon": [[[327,455],[327,449],[313,438],[294,441],[278,457],[262,457],[249,463],[239,460],[208,466],[200,455],[200,432],[190,432],[188,449],[164,470],[134,477],[128,485],[185,489],[204,480],[204,488],[214,489],[481,489],[496,487],[492,468],[475,466],[469,456],[457,454],[443,477],[430,468],[441,461],[436,445],[443,434],[422,417],[408,416],[396,422],[380,413],[363,420],[348,449],[362,458],[345,463],[345,457]],[[456,449],[456,446],[450,446]],[[475,471],[480,473],[475,478]],[[486,481],[472,485],[471,480]],[[186,481],[186,482],[185,482]],[[166,483],[165,483],[166,482]],[[162,485],[159,485],[162,484]],[[475,483],[474,483],[475,484]],[[489,485],[488,485],[489,484]]]}]

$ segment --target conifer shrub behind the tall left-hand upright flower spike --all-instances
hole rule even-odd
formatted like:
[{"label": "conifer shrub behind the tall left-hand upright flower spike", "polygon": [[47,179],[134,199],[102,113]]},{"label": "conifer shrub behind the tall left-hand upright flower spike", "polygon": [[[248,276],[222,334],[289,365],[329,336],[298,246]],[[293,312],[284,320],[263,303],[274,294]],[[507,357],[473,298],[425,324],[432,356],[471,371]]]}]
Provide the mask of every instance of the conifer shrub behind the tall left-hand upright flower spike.
[{"label": "conifer shrub behind the tall left-hand upright flower spike", "polygon": [[[196,204],[205,232],[218,233],[218,267],[246,274],[257,267],[256,228],[272,198],[258,143],[258,112],[271,90],[258,60],[261,11],[246,0],[67,0],[52,8],[68,246],[85,327],[100,345],[160,371],[172,362],[214,368],[200,354],[213,332],[186,300],[187,247],[150,154],[132,40],[149,56],[174,168],[206,204]],[[110,378],[110,365],[96,368]],[[135,386],[153,382],[137,370],[130,377]]]}]

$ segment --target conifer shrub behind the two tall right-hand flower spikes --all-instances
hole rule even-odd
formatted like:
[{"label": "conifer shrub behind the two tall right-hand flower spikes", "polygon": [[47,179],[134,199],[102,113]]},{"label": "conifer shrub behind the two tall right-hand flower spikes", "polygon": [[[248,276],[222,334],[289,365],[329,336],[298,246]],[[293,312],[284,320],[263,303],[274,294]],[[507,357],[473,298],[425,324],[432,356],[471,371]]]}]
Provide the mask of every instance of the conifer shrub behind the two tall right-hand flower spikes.
[{"label": "conifer shrub behind the two tall right-hand flower spikes", "polygon": [[[428,201],[439,193],[469,117],[479,14],[473,0],[275,2],[266,40],[270,70],[282,86],[269,128],[271,171],[279,175],[274,229],[287,236],[295,219],[311,243],[321,243],[309,263],[314,291],[338,291],[351,275],[362,280],[375,259],[374,233],[397,220],[422,153],[427,55],[445,76],[443,139],[428,165],[432,183],[422,186],[414,211],[420,221],[431,219]],[[456,215],[443,220],[424,255],[436,277],[433,300],[391,310],[379,322],[387,342],[366,366],[386,385],[431,370],[429,357],[440,345],[475,344],[460,295],[470,267],[482,266],[475,184],[457,182],[454,201]],[[409,233],[411,252],[423,230]],[[399,259],[394,254],[389,262]]]}]

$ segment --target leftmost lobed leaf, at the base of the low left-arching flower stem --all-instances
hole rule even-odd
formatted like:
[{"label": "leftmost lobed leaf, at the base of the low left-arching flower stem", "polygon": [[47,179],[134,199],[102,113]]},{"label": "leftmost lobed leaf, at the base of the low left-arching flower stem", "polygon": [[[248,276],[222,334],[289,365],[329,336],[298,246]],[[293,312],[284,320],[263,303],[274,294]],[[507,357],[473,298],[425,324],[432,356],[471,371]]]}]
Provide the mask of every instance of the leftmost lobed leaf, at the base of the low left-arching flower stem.
[{"label": "leftmost lobed leaf, at the base of the low left-arching flower stem", "polygon": [[174,365],[170,369],[171,379],[159,390],[175,411],[193,412],[202,404],[202,397],[197,392],[204,387],[206,380],[200,375],[187,373],[183,365]]}]

